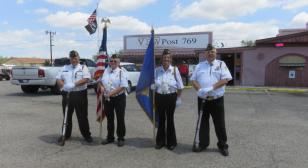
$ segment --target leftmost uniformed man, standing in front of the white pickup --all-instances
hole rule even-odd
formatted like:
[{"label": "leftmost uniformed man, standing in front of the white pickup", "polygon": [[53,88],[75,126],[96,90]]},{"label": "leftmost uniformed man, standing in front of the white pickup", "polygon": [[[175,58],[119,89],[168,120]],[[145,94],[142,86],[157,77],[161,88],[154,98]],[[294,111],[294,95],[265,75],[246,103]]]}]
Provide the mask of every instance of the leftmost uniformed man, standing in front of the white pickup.
[{"label": "leftmost uniformed man, standing in front of the white pickup", "polygon": [[[57,84],[62,90],[62,107],[63,114],[65,106],[68,103],[67,128],[65,139],[69,139],[72,134],[72,116],[76,111],[79,129],[85,141],[92,142],[89,121],[88,121],[88,94],[87,82],[91,78],[91,74],[86,65],[80,65],[79,54],[72,50],[69,53],[70,64],[64,65],[57,75]],[[69,100],[67,102],[67,94]],[[61,137],[59,138],[61,141]]]}]

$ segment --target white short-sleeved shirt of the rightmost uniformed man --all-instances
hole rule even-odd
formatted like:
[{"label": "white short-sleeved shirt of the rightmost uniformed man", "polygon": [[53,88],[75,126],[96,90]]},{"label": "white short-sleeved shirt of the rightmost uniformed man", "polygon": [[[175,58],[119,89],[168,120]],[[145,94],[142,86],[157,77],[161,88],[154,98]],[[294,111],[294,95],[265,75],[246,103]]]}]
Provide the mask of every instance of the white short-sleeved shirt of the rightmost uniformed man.
[{"label": "white short-sleeved shirt of the rightmost uniformed man", "polygon": [[[222,79],[230,81],[232,80],[232,76],[225,62],[216,59],[212,63],[208,61],[200,62],[190,77],[191,81],[198,82],[200,88],[211,87]],[[208,96],[220,97],[224,93],[225,86],[210,91]]]}]

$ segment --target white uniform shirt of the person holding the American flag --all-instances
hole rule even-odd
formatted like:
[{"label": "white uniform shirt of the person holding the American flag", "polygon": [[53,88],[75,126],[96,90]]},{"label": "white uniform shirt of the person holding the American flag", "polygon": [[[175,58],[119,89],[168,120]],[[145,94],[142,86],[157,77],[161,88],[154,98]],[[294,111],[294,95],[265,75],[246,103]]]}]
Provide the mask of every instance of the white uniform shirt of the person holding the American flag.
[{"label": "white uniform shirt of the person holding the American flag", "polygon": [[[108,67],[105,69],[101,82],[105,88],[105,92],[109,93],[117,87],[128,87],[127,73],[125,70],[117,67],[112,70]],[[122,94],[122,93],[119,93]],[[118,95],[119,95],[118,94]]]}]

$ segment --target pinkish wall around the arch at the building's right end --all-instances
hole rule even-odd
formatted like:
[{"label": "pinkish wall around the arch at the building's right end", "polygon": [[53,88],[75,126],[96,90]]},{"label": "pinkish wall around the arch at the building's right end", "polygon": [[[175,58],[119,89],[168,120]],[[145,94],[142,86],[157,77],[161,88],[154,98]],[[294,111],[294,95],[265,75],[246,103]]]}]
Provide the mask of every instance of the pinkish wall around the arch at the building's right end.
[{"label": "pinkish wall around the arch at the building's right end", "polygon": [[[274,59],[286,54],[308,56],[307,47],[256,48],[243,51],[242,85],[264,86],[266,66]],[[307,63],[306,63],[307,64]],[[308,65],[306,65],[308,66]]]}]

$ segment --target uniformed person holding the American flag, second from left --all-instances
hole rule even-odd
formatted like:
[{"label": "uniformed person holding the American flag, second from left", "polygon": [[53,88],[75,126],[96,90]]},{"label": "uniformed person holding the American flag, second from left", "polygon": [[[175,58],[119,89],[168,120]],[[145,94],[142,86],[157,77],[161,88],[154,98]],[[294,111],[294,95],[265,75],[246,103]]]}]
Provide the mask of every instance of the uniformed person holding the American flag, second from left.
[{"label": "uniformed person holding the American flag, second from left", "polygon": [[114,112],[117,117],[118,146],[124,145],[126,88],[128,87],[127,73],[119,67],[120,58],[116,54],[111,56],[109,67],[104,71],[99,82],[101,92],[105,96],[104,108],[107,117],[107,139],[102,142],[106,145],[114,142]]}]

